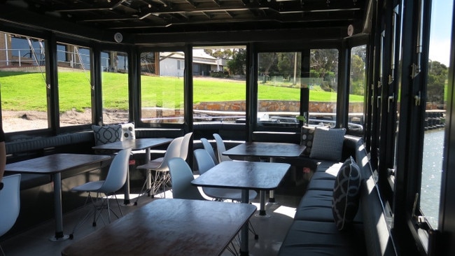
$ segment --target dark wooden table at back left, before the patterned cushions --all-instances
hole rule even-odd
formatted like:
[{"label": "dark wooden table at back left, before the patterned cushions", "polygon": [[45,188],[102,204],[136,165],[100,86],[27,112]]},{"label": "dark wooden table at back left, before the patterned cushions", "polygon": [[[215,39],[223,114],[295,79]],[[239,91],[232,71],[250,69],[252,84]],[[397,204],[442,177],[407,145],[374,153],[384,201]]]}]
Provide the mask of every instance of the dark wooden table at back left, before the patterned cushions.
[{"label": "dark wooden table at back left, before the patterned cushions", "polygon": [[[136,138],[126,141],[117,141],[113,143],[107,143],[104,145],[95,145],[92,147],[97,150],[123,150],[125,148],[132,148],[132,150],[146,150],[144,162],[150,162],[150,149],[157,147],[158,145],[164,145],[171,143],[173,138]],[[127,176],[127,183],[125,183],[125,199],[123,199],[125,206],[131,206],[130,201],[130,173]]]}]

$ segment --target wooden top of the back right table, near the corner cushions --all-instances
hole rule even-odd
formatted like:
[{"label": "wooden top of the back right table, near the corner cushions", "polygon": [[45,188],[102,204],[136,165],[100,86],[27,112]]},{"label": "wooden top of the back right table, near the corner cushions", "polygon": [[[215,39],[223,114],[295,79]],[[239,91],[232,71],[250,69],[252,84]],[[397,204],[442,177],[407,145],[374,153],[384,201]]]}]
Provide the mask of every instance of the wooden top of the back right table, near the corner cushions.
[{"label": "wooden top of the back right table, near the corner cushions", "polygon": [[223,152],[229,156],[298,157],[306,146],[294,143],[246,142]]}]

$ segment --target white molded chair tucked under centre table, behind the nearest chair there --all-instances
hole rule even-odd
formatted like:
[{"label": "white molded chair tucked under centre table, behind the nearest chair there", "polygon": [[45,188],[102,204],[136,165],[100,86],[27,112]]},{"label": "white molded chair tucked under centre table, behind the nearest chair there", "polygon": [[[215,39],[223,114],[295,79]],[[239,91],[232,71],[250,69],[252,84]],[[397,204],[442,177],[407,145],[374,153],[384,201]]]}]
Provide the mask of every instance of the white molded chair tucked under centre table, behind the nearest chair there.
[{"label": "white molded chair tucked under centre table, behind the nearest chair there", "polygon": [[[215,166],[213,159],[207,150],[202,148],[195,150],[195,159],[200,175]],[[232,200],[241,201],[241,190],[230,189],[230,188],[218,188],[218,187],[202,187],[204,194],[208,197],[214,198],[218,201]],[[251,201],[258,196],[258,192],[249,190],[248,199]]]}]

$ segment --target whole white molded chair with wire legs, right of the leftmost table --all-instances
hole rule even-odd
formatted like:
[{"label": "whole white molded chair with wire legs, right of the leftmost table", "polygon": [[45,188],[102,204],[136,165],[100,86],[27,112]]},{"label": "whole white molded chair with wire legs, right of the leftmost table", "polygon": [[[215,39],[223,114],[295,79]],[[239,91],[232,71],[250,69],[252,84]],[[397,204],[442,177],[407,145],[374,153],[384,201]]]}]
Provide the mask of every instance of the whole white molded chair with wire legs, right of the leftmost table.
[{"label": "whole white molded chair with wire legs, right of the leftmost table", "polygon": [[[99,217],[102,218],[103,222],[104,219],[102,217],[102,210],[104,208],[107,208],[107,213],[108,213],[108,220],[111,222],[111,212],[116,215],[117,218],[118,215],[112,211],[111,206],[109,205],[109,197],[113,197],[116,199],[118,209],[120,211],[120,215],[123,216],[122,213],[122,208],[120,208],[120,204],[118,204],[117,197],[116,197],[116,192],[120,190],[123,185],[125,185],[125,182],[127,180],[127,173],[128,173],[128,164],[130,162],[130,154],[131,154],[131,148],[127,148],[124,150],[120,150],[117,155],[113,157],[113,160],[111,162],[111,166],[109,166],[109,171],[107,173],[106,179],[105,180],[97,180],[97,181],[90,181],[88,183],[85,183],[83,185],[78,185],[76,187],[73,187],[71,191],[74,192],[88,192],[88,197],[87,200],[85,201],[85,204],[87,204],[87,201],[90,199],[92,201],[92,204],[94,206],[94,213],[93,213],[93,227],[97,225],[97,219]],[[96,192],[97,197],[96,200],[94,200],[90,193],[91,192]],[[106,195],[106,198],[101,200],[101,203],[97,204],[99,201],[99,194],[103,193]],[[97,215],[97,213],[99,213]],[[76,228],[85,222],[85,220],[88,218],[90,215],[90,212],[85,215],[83,220],[76,225],[73,229],[73,233],[69,235],[70,239],[73,239],[73,234],[76,231]]]}]

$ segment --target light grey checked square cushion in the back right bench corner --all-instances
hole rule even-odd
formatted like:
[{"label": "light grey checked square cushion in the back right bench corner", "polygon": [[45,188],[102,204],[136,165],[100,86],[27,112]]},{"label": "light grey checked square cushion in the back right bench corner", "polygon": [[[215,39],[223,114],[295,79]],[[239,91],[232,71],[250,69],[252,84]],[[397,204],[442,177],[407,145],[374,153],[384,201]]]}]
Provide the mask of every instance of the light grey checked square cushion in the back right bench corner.
[{"label": "light grey checked square cushion in the back right bench corner", "polygon": [[340,161],[342,157],[344,134],[346,129],[329,129],[316,127],[314,129],[313,146],[309,157]]}]

